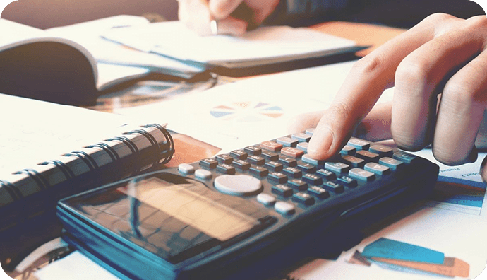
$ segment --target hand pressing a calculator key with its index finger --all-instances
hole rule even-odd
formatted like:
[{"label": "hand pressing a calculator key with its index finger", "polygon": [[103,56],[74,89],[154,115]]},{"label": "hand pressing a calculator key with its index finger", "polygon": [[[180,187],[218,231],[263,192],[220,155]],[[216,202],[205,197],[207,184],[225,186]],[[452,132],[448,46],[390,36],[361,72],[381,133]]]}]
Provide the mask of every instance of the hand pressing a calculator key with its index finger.
[{"label": "hand pressing a calculator key with its index finger", "polygon": [[[474,144],[487,146],[486,48],[486,16],[429,16],[356,62],[332,105],[294,129],[316,127],[308,153],[318,159],[338,153],[355,131],[375,140],[392,136],[407,151],[432,143],[447,165],[474,161]],[[391,86],[392,104],[370,112]]]}]

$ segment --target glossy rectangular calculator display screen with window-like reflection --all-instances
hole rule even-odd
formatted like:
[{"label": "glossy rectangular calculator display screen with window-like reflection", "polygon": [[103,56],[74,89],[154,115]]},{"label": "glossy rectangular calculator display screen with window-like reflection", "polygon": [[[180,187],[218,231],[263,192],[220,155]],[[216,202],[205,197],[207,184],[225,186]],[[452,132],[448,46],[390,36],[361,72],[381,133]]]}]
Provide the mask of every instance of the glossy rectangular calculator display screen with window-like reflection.
[{"label": "glossy rectangular calculator display screen with window-like reflection", "polygon": [[258,204],[169,173],[131,180],[65,203],[99,230],[118,235],[121,244],[143,248],[173,264],[225,247],[272,220]]}]

